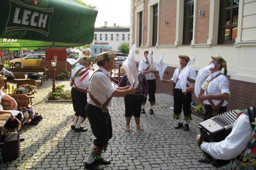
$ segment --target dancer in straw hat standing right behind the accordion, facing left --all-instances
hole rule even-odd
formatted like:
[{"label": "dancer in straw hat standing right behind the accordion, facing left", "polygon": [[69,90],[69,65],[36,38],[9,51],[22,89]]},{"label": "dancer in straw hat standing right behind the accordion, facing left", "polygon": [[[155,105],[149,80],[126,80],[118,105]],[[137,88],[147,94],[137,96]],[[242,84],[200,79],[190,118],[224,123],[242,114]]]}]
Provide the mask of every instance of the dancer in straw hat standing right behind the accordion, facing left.
[{"label": "dancer in straw hat standing right behind the accordion, facing left", "polygon": [[[210,75],[202,85],[204,95],[199,95],[200,101],[204,103],[205,114],[203,121],[212,118],[220,113],[226,112],[227,99],[230,96],[229,81],[226,78],[226,61],[219,55],[211,56],[210,63],[214,68],[210,69]],[[221,69],[224,67],[223,74]],[[186,88],[186,91],[194,91],[194,87]],[[199,160],[202,163],[210,162],[206,157]]]}]

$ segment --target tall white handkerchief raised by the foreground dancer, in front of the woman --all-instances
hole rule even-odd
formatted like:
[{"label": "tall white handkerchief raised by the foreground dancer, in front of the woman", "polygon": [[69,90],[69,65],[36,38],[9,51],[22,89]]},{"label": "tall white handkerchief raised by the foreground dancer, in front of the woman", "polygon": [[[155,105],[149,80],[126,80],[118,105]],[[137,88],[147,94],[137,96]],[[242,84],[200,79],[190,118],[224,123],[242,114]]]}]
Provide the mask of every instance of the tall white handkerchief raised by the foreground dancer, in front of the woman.
[{"label": "tall white handkerchief raised by the foreground dancer, in front of the woman", "polygon": [[131,86],[134,85],[134,88],[138,86],[138,70],[136,68],[136,63],[135,63],[135,49],[136,49],[136,44],[131,46],[129,55],[127,59],[125,59],[125,61],[123,62],[123,66],[125,68],[125,72],[128,77],[128,80]]}]

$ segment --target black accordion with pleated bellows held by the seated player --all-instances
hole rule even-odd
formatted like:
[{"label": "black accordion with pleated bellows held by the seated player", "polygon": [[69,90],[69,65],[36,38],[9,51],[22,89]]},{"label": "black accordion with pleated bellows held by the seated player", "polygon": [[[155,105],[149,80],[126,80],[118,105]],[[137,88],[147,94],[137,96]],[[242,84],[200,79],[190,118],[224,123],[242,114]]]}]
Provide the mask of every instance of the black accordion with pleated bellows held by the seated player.
[{"label": "black accordion with pleated bellows held by the seated player", "polygon": [[[199,124],[201,137],[198,142],[198,146],[200,146],[203,141],[223,141],[232,131],[233,124],[236,121],[236,117],[241,112],[241,110],[228,111],[201,122]],[[221,167],[223,165],[230,163],[230,160],[216,160],[206,152],[203,153],[211,161],[214,167]]]}]

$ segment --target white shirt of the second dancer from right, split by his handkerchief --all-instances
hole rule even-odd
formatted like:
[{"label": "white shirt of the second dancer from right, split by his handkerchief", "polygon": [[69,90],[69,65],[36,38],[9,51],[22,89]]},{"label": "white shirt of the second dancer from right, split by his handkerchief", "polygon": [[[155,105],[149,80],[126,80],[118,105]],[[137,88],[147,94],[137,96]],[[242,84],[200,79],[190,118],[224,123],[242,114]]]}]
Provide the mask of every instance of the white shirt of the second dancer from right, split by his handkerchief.
[{"label": "white shirt of the second dancer from right, split by his handkerchief", "polygon": [[[180,72],[180,71],[181,71],[181,66],[179,66],[177,69],[174,70],[173,77],[171,78],[171,80],[174,81],[174,83],[176,83],[175,88],[180,88],[180,89],[182,89],[181,80],[178,79],[178,76],[179,76],[179,72]],[[189,78],[192,78],[192,79],[194,79],[194,80],[197,79],[197,73],[196,73],[196,71],[195,71],[193,68],[191,68],[191,69],[189,70],[188,77],[189,77]],[[178,82],[176,82],[177,79],[178,79]],[[188,80],[187,80],[187,84],[189,85],[189,87],[194,86],[194,83],[190,83]]]}]

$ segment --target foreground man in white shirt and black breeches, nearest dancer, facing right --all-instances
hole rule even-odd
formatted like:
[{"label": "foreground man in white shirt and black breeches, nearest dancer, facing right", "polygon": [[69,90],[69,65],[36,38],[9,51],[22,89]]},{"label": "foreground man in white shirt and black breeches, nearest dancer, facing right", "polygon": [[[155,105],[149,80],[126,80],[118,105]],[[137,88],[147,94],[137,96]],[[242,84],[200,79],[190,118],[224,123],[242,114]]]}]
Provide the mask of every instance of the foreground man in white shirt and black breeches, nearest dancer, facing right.
[{"label": "foreground man in white shirt and black breeches, nearest dancer, facing right", "polygon": [[111,52],[102,52],[96,56],[99,68],[90,78],[88,104],[85,112],[96,139],[85,161],[85,169],[89,170],[103,170],[103,168],[98,167],[98,164],[110,164],[109,160],[104,160],[101,157],[101,154],[107,149],[108,140],[112,137],[111,117],[108,113],[111,98],[135,94],[135,88],[130,86],[118,88],[112,86],[109,72],[115,68],[114,57],[116,56]]}]

